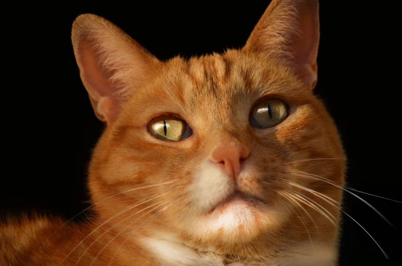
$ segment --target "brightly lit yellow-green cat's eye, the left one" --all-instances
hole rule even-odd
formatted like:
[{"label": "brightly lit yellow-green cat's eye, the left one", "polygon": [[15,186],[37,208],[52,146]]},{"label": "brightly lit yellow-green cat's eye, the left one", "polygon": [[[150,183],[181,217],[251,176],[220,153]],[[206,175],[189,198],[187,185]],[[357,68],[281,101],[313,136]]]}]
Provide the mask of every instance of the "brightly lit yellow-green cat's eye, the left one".
[{"label": "brightly lit yellow-green cat's eye, the left one", "polygon": [[154,118],[148,124],[148,130],[156,138],[167,141],[185,140],[193,134],[193,130],[185,121],[173,116]]}]

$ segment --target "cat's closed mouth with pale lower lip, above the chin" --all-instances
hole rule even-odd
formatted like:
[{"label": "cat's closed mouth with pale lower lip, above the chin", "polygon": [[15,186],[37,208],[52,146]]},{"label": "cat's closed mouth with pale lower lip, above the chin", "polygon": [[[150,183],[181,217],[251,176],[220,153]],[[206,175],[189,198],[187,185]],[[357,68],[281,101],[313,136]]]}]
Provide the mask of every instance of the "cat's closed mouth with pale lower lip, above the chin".
[{"label": "cat's closed mouth with pale lower lip, above the chin", "polygon": [[230,208],[262,208],[266,206],[266,204],[267,203],[263,199],[236,190],[234,193],[226,197],[225,200],[219,202],[213,208],[211,208],[208,211],[208,214],[216,212],[222,213]]}]

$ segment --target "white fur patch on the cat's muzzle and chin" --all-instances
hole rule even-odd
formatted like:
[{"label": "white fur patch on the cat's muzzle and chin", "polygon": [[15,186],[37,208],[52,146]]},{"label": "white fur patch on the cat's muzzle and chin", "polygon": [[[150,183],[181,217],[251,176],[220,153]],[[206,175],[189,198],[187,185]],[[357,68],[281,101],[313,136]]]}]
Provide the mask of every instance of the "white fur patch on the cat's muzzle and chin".
[{"label": "white fur patch on the cat's muzzle and chin", "polygon": [[[243,169],[242,174],[246,172],[247,169]],[[187,217],[187,229],[199,237],[220,232],[222,240],[247,241],[258,235],[263,227],[279,220],[281,214],[273,210],[273,206],[245,200],[240,195],[234,196],[235,191],[235,182],[222,169],[204,161],[194,175],[193,184],[189,186],[196,213]],[[230,200],[227,201],[229,196]]]}]

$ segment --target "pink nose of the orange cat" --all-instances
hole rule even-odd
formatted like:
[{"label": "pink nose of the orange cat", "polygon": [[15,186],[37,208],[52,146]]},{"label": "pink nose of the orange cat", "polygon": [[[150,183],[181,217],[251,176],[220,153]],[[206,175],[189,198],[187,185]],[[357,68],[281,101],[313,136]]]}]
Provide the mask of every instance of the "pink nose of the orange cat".
[{"label": "pink nose of the orange cat", "polygon": [[219,164],[227,175],[236,180],[242,170],[242,162],[249,154],[244,146],[219,144],[210,152],[209,160]]}]

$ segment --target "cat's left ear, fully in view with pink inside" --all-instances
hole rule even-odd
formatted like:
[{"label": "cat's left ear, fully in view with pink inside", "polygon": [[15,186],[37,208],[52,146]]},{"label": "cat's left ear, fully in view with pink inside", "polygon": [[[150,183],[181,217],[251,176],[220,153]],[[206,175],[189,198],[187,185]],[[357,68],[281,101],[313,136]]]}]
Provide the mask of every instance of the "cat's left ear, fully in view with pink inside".
[{"label": "cat's left ear, fully in view with pink inside", "polygon": [[78,16],[72,29],[75,58],[97,118],[116,118],[128,91],[135,90],[157,60],[102,17]]}]

